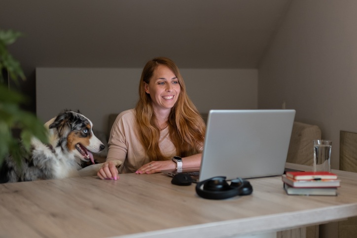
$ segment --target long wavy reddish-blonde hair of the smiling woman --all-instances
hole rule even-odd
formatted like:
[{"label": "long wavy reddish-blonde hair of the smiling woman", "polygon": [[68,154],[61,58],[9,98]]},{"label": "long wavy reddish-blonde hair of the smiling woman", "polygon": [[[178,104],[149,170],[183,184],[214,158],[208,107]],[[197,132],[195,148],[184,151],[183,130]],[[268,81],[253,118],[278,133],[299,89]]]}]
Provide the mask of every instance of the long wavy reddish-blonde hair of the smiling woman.
[{"label": "long wavy reddish-blonde hair of the smiling woman", "polygon": [[170,139],[176,147],[177,155],[186,157],[201,153],[198,148],[203,147],[206,125],[195,105],[186,93],[185,83],[179,73],[177,65],[168,58],[158,57],[148,61],[143,68],[139,84],[139,101],[135,107],[138,137],[147,150],[148,158],[165,160],[159,148],[160,129],[156,124],[150,95],[145,92],[144,84],[149,83],[154,71],[159,65],[168,67],[176,75],[180,93],[178,100],[171,109],[168,117]]}]

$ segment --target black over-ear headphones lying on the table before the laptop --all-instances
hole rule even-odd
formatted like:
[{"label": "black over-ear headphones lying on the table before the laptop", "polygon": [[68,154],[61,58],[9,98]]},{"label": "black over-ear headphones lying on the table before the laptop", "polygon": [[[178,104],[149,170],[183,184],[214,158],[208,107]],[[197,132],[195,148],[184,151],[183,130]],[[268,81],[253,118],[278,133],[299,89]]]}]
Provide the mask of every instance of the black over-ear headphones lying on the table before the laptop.
[{"label": "black over-ear headphones lying on the table before the laptop", "polygon": [[[203,185],[203,189],[201,189]],[[226,177],[213,177],[197,183],[196,193],[207,199],[225,199],[234,196],[250,195],[253,192],[253,187],[250,182],[241,178],[236,178],[227,183]]]}]

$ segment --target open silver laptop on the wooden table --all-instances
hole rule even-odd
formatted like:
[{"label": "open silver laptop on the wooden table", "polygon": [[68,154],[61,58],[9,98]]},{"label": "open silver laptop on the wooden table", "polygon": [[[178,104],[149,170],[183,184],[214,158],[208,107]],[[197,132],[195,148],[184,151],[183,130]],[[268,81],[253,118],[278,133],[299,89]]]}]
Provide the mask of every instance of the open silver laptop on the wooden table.
[{"label": "open silver laptop on the wooden table", "polygon": [[[188,172],[196,182],[282,175],[294,118],[295,110],[211,110],[201,167]],[[174,176],[177,170],[162,172]]]}]

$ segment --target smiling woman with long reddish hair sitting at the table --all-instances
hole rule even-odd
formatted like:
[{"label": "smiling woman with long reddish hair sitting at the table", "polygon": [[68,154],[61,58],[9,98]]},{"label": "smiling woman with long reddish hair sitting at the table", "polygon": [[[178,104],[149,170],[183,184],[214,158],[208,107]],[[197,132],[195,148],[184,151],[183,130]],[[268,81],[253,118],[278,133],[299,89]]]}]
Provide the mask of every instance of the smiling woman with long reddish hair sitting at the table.
[{"label": "smiling woman with long reddish hair sitting at the table", "polygon": [[[116,180],[119,171],[151,174],[200,166],[206,126],[187,96],[176,64],[164,57],[148,61],[139,97],[135,109],[115,120],[107,161],[97,175]],[[174,156],[182,157],[182,162]]]}]

